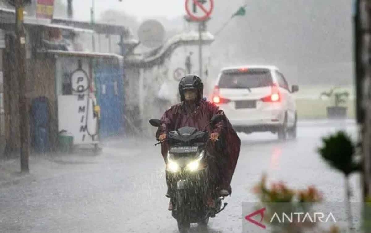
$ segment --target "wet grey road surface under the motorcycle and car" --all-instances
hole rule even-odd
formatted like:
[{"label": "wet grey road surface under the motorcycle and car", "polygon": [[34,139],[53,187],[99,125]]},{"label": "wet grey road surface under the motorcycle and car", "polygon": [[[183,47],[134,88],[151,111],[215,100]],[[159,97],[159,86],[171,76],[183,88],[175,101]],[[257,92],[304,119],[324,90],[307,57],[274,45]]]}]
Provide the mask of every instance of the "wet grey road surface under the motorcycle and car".
[{"label": "wet grey road surface under the motorcycle and car", "polygon": [[[226,210],[211,219],[209,232],[241,232],[242,202],[254,202],[251,189],[263,172],[290,187],[310,184],[325,200],[342,202],[342,175],[322,162],[315,148],[320,137],[353,122],[300,122],[298,138],[277,142],[270,133],[240,134],[242,151]],[[99,156],[33,159],[32,174],[0,186],[0,232],[177,232],[167,211],[164,162],[152,141],[106,143]],[[358,200],[359,176],[351,177]],[[196,228],[193,227],[195,232]]]}]

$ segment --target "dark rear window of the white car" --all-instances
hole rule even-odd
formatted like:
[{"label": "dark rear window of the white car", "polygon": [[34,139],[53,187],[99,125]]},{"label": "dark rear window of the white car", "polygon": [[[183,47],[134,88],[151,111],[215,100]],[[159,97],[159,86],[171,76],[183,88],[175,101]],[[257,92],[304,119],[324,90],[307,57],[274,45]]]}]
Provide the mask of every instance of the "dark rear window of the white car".
[{"label": "dark rear window of the white car", "polygon": [[219,80],[219,88],[256,88],[272,86],[268,69],[225,70]]}]

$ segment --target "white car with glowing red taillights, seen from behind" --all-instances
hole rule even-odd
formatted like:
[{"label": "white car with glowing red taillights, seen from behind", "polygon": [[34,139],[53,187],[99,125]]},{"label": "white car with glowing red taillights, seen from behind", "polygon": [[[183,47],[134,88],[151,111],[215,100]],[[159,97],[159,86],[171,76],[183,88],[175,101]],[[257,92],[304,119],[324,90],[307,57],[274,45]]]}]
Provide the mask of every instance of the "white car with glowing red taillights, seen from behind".
[{"label": "white car with glowing red taillights, seen from behind", "polygon": [[240,66],[221,70],[212,101],[237,132],[272,132],[279,140],[296,138],[297,85],[289,86],[274,66]]}]

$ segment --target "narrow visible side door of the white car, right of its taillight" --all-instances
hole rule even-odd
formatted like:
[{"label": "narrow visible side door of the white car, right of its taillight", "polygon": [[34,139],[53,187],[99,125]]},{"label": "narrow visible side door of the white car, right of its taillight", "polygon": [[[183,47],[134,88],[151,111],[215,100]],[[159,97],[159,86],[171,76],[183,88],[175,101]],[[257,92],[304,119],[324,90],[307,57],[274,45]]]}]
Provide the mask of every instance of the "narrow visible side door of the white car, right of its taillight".
[{"label": "narrow visible side door of the white car, right of its taillight", "polygon": [[285,101],[284,106],[287,112],[287,121],[288,125],[292,126],[295,122],[295,105],[293,106],[293,99],[291,96],[291,90],[288,82],[286,81],[285,77],[282,73],[276,70],[277,81],[280,88],[280,92],[282,93],[283,101]]}]

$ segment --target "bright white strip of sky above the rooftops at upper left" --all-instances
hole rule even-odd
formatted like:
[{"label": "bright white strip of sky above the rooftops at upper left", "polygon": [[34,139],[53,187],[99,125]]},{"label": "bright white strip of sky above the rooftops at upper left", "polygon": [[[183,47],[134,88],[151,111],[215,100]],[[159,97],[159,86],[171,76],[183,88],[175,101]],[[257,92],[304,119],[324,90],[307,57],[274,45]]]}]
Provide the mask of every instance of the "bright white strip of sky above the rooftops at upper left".
[{"label": "bright white strip of sky above the rooftops at upper left", "polygon": [[[63,0],[66,2],[66,0]],[[108,9],[122,10],[127,14],[136,16],[139,21],[150,19],[151,17],[167,17],[169,19],[185,14],[183,0],[94,0],[95,18]],[[77,20],[90,20],[90,10],[92,0],[74,0],[74,17]]]}]

